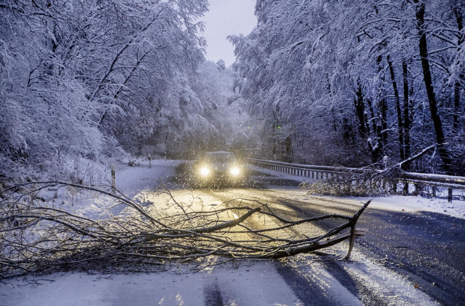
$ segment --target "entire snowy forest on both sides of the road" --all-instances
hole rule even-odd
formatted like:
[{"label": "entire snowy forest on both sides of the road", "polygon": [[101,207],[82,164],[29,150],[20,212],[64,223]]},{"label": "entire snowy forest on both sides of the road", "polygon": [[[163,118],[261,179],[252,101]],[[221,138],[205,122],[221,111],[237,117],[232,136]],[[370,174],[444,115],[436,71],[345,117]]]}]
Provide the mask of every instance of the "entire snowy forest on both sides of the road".
[{"label": "entire snowy forest on both sides of the road", "polygon": [[207,0],[0,0],[0,177],[212,150],[465,174],[463,0],[257,0],[205,59]]}]

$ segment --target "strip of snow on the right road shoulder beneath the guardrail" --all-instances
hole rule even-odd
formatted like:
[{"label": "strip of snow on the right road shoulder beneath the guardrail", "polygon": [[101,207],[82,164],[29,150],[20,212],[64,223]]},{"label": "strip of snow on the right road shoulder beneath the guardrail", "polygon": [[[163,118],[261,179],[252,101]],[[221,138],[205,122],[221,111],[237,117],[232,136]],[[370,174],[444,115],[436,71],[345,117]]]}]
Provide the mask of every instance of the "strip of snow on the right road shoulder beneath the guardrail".
[{"label": "strip of snow on the right road shoulder beneath the guardrail", "polygon": [[[295,181],[301,182],[313,182],[314,179],[308,177],[299,177],[293,176],[286,173],[281,173],[279,171],[273,171],[269,169],[262,169],[256,166],[249,165],[250,169],[259,171],[268,175],[275,177],[280,177],[284,179],[292,179]],[[413,186],[412,186],[413,187]],[[464,191],[454,190],[454,194],[463,194]],[[295,197],[296,199],[308,199],[309,195],[305,190],[292,190],[290,191],[290,196]],[[316,196],[311,195],[311,197],[321,197],[325,199],[341,199],[335,198],[332,196]],[[366,202],[371,197],[344,197],[344,201],[352,201],[353,203]],[[414,195],[392,195],[392,196],[380,196],[375,197],[370,204],[371,209],[386,209],[393,211],[406,211],[406,212],[415,212],[415,211],[431,211],[446,214],[456,218],[465,219],[465,201],[453,200],[452,203],[449,203],[447,199],[443,198],[425,198],[422,196]]]}]

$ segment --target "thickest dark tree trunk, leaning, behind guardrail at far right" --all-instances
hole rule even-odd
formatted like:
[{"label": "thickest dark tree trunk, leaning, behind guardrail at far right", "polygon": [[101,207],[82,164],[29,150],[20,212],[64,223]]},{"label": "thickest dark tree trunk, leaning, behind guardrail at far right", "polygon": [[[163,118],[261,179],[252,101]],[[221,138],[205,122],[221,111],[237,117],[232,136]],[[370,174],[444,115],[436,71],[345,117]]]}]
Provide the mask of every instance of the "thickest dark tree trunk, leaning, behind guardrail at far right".
[{"label": "thickest dark tree trunk, leaning, behind guardrail at far right", "polygon": [[[418,2],[416,0],[415,2]],[[431,79],[431,70],[430,70],[430,62],[428,60],[428,47],[426,43],[426,32],[424,30],[425,26],[425,3],[421,2],[418,7],[417,7],[417,29],[418,29],[418,36],[419,36],[419,41],[418,41],[418,47],[419,47],[419,52],[420,52],[420,57],[421,57],[421,66],[423,68],[423,80],[425,82],[425,87],[426,87],[426,94],[428,95],[428,103],[430,105],[430,113],[431,113],[431,119],[433,120],[434,124],[434,132],[436,134],[436,142],[441,145],[444,144],[444,130],[442,127],[442,122],[441,118],[439,117],[439,114],[437,112],[437,103],[436,103],[436,97],[434,95],[434,88],[433,88],[433,81]],[[444,145],[441,145],[438,147],[439,151],[439,156],[441,157],[441,160],[444,164],[444,170],[448,174],[451,173],[451,160],[449,156],[449,152],[447,148]]]}]

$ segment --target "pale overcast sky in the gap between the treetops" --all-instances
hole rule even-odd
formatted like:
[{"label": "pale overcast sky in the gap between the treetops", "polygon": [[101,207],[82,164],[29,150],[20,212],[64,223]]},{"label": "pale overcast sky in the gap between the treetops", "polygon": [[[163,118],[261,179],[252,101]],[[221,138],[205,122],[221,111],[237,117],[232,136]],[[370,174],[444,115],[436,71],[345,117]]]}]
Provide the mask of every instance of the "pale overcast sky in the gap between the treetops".
[{"label": "pale overcast sky in the gap between the treetops", "polygon": [[205,21],[203,36],[207,40],[207,60],[223,59],[226,66],[233,64],[234,48],[226,39],[233,34],[248,34],[257,24],[253,14],[255,0],[209,0],[210,11],[202,18]]}]

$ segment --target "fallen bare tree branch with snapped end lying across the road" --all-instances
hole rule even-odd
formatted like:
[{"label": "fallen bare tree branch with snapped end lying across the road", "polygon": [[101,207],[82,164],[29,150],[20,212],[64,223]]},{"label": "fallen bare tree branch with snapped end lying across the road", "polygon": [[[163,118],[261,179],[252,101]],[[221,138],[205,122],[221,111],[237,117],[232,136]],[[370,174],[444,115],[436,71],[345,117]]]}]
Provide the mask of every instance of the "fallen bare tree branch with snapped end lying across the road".
[{"label": "fallen bare tree branch with snapped end lying across the road", "polygon": [[[114,205],[124,205],[124,213],[93,219],[50,205],[39,196],[45,189],[70,188],[105,195]],[[73,270],[154,271],[177,262],[202,267],[211,257],[219,262],[284,258],[317,252],[346,239],[350,239],[349,258],[355,237],[365,233],[356,229],[356,222],[370,203],[353,216],[327,214],[288,220],[257,200],[233,199],[216,209],[193,209],[178,203],[167,188],[160,193],[168,195],[178,212],[154,209],[151,202],[122,193],[60,181],[30,182],[3,190],[0,277]],[[251,216],[273,220],[267,224],[276,226],[252,228],[246,224]],[[324,219],[342,222],[314,237],[282,237],[282,231]],[[341,234],[347,228],[350,231]]]}]

